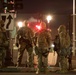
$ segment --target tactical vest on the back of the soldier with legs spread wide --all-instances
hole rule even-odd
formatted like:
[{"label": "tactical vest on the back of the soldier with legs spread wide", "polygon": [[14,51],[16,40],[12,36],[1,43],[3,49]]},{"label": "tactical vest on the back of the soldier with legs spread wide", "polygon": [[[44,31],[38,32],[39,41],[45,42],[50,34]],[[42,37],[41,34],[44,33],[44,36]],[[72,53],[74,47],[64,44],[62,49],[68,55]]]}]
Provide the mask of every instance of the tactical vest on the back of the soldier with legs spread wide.
[{"label": "tactical vest on the back of the soldier with legs spread wide", "polygon": [[25,42],[27,44],[32,43],[32,35],[31,31],[28,27],[23,27],[19,30],[18,35],[20,36],[19,38],[19,43],[21,44],[22,42]]}]

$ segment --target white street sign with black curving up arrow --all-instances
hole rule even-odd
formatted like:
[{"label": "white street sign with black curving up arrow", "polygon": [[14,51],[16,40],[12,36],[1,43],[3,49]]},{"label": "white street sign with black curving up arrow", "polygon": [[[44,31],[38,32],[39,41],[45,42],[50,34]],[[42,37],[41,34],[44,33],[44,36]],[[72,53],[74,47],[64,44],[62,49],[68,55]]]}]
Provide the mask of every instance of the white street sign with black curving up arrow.
[{"label": "white street sign with black curving up arrow", "polygon": [[13,13],[2,13],[1,18],[5,22],[4,28],[6,30],[13,30],[13,28],[14,28],[14,14]]}]

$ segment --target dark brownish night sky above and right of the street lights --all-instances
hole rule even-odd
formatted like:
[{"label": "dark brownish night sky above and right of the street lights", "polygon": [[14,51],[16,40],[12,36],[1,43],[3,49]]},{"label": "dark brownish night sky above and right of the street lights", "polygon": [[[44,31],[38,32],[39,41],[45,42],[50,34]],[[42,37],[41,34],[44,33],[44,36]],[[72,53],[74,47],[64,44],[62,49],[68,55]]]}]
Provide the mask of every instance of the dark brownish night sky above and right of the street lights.
[{"label": "dark brownish night sky above and right of the street lights", "polygon": [[59,25],[69,26],[69,16],[73,13],[73,0],[23,0],[23,9],[18,10],[18,13],[21,14],[18,16],[20,18],[25,18],[25,14],[52,14],[53,20],[49,25],[52,34],[57,34]]}]

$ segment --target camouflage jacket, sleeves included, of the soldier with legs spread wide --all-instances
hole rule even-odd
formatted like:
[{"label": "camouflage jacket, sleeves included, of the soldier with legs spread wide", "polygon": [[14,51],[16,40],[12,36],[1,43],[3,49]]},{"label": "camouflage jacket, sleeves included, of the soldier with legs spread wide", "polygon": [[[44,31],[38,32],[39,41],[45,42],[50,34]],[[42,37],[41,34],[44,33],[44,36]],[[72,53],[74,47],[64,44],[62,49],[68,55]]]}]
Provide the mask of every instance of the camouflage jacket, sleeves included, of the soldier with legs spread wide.
[{"label": "camouflage jacket, sleeves included, of the soldier with legs spread wide", "polygon": [[32,38],[34,36],[33,31],[28,27],[22,27],[18,30],[16,35],[16,43],[24,42],[24,40],[28,39],[30,42],[32,42]]}]

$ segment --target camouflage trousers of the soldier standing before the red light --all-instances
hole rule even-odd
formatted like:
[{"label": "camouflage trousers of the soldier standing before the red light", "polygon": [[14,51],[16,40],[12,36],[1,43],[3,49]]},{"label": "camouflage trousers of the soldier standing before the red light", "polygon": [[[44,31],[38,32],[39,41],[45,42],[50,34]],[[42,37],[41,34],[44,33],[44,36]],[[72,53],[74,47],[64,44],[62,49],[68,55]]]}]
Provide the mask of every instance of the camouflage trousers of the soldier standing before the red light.
[{"label": "camouflage trousers of the soldier standing before the red light", "polygon": [[38,48],[38,67],[36,73],[41,71],[46,73],[48,71],[48,54],[46,50],[44,48]]}]

